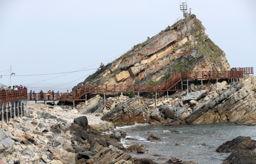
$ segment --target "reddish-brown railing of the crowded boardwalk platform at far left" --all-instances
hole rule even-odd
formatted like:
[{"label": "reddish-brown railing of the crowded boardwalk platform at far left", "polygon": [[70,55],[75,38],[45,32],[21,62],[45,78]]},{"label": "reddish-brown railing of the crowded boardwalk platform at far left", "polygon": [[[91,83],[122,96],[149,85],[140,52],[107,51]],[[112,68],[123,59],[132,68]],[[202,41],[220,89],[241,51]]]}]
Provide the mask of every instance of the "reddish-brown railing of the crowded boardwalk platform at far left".
[{"label": "reddish-brown railing of the crowded boardwalk platform at far left", "polygon": [[27,99],[27,90],[0,91],[0,103]]}]

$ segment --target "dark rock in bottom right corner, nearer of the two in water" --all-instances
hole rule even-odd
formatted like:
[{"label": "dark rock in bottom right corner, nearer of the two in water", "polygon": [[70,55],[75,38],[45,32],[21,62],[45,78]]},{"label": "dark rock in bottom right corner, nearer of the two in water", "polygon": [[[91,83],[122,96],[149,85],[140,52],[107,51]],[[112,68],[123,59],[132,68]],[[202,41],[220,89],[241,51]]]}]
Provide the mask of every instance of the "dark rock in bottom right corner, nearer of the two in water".
[{"label": "dark rock in bottom right corner, nearer of the two in water", "polygon": [[256,153],[250,150],[233,152],[222,164],[256,164]]}]

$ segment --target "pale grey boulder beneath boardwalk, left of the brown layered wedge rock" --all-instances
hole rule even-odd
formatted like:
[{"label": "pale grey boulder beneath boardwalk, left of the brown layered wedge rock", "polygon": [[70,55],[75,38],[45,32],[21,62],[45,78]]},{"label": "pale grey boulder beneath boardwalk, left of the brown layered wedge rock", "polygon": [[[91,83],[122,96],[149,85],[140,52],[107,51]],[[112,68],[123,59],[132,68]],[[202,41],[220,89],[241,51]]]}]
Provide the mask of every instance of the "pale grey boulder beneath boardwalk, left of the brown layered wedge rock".
[{"label": "pale grey boulder beneath boardwalk, left of the brown layered wedge rock", "polygon": [[88,114],[88,113],[101,113],[104,109],[104,101],[100,94],[97,94],[95,97],[89,99],[87,104],[83,106],[79,113]]}]

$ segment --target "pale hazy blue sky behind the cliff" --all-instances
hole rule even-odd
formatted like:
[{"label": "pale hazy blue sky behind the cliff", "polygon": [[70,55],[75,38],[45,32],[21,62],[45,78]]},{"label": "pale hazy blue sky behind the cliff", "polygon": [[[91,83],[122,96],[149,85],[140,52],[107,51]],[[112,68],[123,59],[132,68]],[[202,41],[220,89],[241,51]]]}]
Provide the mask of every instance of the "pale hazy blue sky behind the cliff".
[{"label": "pale hazy blue sky behind the cliff", "polygon": [[[94,69],[182,18],[179,0],[0,0],[0,75]],[[187,0],[231,67],[255,67],[256,0]],[[113,58],[114,57],[114,58]],[[110,59],[112,58],[112,59]],[[110,59],[110,60],[108,60]],[[105,61],[108,60],[108,61]],[[96,65],[94,65],[96,64]],[[94,66],[91,66],[94,65]],[[87,68],[88,67],[88,68]],[[13,76],[13,85],[82,82],[94,70]],[[6,75],[9,75],[7,73]],[[9,86],[9,76],[0,83]]]}]

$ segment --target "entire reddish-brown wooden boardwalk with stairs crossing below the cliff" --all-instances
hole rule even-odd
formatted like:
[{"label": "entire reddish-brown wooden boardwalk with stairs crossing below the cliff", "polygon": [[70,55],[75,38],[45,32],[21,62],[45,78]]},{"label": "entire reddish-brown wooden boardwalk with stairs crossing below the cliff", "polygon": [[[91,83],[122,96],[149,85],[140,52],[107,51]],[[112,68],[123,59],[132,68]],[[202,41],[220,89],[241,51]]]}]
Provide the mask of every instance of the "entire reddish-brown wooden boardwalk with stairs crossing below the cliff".
[{"label": "entire reddish-brown wooden boardwalk with stairs crossing below the cliff", "polygon": [[[253,74],[253,67],[232,68],[233,71],[209,71],[209,72],[181,72],[174,73],[165,82],[160,84],[119,84],[119,85],[83,85],[73,93],[27,93],[24,91],[0,91],[0,103],[14,100],[35,101],[66,101],[86,100],[81,99],[86,93],[114,93],[114,92],[155,92],[155,91],[182,91],[183,80],[209,80],[209,79],[241,79],[244,74]],[[181,82],[181,83],[180,83]],[[178,84],[179,83],[179,84]]]}]

